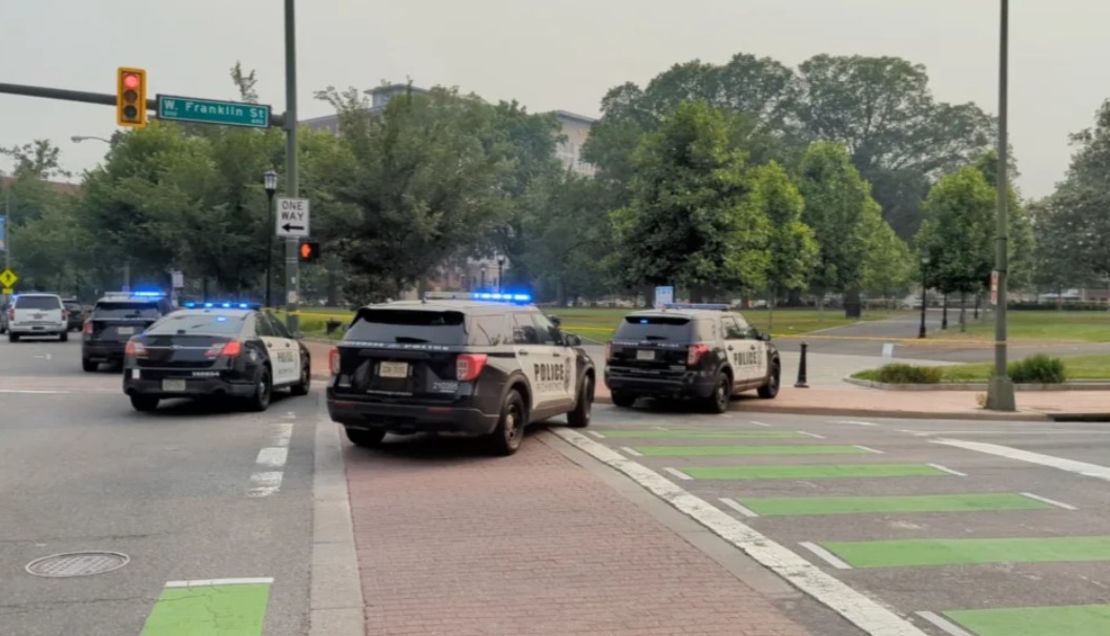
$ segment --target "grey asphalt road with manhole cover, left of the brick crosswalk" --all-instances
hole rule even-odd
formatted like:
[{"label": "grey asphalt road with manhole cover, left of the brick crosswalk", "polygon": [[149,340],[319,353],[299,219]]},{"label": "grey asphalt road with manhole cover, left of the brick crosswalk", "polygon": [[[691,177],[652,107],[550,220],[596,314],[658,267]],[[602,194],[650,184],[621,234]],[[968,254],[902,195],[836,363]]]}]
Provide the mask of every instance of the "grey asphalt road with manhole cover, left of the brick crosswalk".
[{"label": "grey asphalt road with manhole cover, left of the brick crosswalk", "polygon": [[[229,578],[273,578],[265,633],[305,634],[320,395],[266,413],[182,401],[140,414],[118,372],[81,371],[75,340],[0,341],[0,634],[139,634],[168,582]],[[273,447],[274,465],[259,466]],[[280,489],[252,492],[260,472],[280,474]],[[71,551],[130,563],[73,578],[24,571]],[[164,625],[151,634],[172,634]]]}]

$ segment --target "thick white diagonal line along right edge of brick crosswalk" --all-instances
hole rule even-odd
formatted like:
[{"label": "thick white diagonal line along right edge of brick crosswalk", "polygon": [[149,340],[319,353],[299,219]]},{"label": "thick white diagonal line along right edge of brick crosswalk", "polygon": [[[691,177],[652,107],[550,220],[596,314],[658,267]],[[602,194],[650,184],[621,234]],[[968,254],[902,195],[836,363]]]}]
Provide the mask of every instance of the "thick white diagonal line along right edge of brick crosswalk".
[{"label": "thick white diagonal line along right edge of brick crosswalk", "polygon": [[723,539],[824,603],[872,636],[926,636],[912,623],[856,592],[794,551],[773,542],[705,499],[694,496],[658,473],[612,451],[589,437],[566,428],[556,435],[596,460],[632,477],[636,483],[679,512],[690,516]]}]

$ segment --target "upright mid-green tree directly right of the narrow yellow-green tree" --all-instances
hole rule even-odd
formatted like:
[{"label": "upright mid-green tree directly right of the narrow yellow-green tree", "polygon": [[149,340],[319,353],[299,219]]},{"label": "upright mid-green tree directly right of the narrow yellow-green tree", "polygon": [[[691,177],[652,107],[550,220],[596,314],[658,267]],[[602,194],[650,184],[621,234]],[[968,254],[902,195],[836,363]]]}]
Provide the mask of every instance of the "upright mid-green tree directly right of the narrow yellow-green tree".
[{"label": "upright mid-green tree directly right of the narrow yellow-green tree", "polygon": [[810,286],[824,309],[825,294],[841,292],[846,310],[858,306],[862,283],[868,206],[876,205],[870,186],[851,164],[847,150],[817,142],[801,159],[798,186],[805,198],[803,221],[813,228],[820,245]]}]

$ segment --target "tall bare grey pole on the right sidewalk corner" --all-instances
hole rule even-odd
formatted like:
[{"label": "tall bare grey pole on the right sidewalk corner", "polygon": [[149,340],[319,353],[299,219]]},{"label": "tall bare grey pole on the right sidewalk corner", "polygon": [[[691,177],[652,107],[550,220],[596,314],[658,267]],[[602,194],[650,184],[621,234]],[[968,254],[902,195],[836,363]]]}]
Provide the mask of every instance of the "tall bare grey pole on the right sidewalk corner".
[{"label": "tall bare grey pole on the right sidewalk corner", "polygon": [[998,307],[995,312],[995,375],[987,386],[987,408],[1016,411],[1013,382],[1006,369],[1006,284],[1009,264],[1008,241],[1009,181],[1007,180],[1007,89],[1009,64],[1010,1],[1001,0],[998,55],[998,238],[995,245],[995,270],[998,272]]}]

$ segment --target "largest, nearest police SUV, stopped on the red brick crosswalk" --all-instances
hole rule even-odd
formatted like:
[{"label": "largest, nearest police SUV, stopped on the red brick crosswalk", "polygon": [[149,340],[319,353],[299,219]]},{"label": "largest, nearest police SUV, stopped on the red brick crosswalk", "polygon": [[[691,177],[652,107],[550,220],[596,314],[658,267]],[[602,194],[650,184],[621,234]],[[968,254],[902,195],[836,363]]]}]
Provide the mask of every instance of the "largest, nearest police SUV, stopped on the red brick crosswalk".
[{"label": "largest, nearest police SUV, stopped on the red brick crosswalk", "polygon": [[486,436],[516,452],[524,428],[589,424],[594,363],[527,294],[430,293],[359,310],[331,352],[327,411],[360,446],[386,433]]}]

